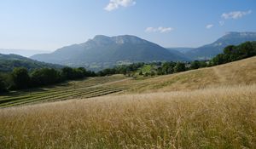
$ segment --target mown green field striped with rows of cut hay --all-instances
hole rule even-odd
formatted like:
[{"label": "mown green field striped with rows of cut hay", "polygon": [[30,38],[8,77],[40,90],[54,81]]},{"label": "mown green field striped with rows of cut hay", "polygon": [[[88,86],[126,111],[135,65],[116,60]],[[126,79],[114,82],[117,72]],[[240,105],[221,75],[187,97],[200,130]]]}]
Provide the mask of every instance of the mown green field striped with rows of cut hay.
[{"label": "mown green field striped with rows of cut hay", "polygon": [[127,78],[121,75],[93,77],[44,89],[17,91],[0,96],[0,107],[109,95],[125,91],[125,87],[108,86],[111,83],[125,81],[125,79]]}]

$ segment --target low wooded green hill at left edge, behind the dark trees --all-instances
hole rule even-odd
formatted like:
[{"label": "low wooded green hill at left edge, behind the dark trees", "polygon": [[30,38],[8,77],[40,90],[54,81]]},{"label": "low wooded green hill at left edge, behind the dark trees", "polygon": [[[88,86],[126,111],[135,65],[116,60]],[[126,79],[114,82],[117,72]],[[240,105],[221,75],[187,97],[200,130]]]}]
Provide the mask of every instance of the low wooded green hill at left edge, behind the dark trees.
[{"label": "low wooded green hill at left edge, behind the dark trees", "polygon": [[0,72],[11,72],[15,67],[26,67],[28,70],[49,67],[61,68],[60,65],[32,60],[18,54],[0,54]]}]

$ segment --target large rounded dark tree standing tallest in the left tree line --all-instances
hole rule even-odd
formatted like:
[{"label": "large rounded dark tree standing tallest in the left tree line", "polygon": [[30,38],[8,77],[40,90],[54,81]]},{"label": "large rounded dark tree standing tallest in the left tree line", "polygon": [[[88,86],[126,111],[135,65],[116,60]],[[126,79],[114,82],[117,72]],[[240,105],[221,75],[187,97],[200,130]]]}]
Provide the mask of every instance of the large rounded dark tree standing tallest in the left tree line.
[{"label": "large rounded dark tree standing tallest in the left tree line", "polygon": [[15,89],[26,89],[30,86],[30,77],[26,68],[17,67],[14,69],[11,75],[15,85]]}]

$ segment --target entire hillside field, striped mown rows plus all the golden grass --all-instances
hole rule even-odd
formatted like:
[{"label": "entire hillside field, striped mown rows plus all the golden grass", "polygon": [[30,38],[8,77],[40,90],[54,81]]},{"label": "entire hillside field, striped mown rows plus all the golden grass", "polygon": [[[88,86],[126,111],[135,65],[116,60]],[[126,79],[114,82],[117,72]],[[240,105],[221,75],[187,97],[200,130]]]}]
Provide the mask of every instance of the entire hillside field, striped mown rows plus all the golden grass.
[{"label": "entire hillside field, striped mown rows plus all the golden grass", "polygon": [[256,57],[12,94],[0,100],[13,106],[0,109],[0,148],[256,148]]}]

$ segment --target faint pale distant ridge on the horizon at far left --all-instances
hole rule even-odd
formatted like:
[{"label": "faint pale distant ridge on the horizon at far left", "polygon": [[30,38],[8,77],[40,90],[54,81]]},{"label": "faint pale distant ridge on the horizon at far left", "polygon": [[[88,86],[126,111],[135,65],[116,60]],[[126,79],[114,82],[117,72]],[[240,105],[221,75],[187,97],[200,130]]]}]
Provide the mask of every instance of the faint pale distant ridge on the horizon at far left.
[{"label": "faint pale distant ridge on the horizon at far left", "polygon": [[0,54],[20,54],[21,56],[30,57],[34,54],[45,54],[50,51],[38,49],[0,49]]}]

